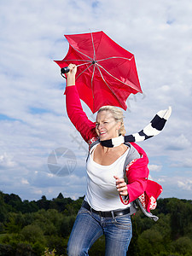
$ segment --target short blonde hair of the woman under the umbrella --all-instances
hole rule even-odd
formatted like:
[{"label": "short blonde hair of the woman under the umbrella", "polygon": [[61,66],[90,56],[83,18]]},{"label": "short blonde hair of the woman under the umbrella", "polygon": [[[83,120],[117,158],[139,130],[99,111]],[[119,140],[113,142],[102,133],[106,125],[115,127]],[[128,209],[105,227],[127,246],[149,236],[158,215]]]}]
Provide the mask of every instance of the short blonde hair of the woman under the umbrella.
[{"label": "short blonde hair of the woman under the umbrella", "polygon": [[119,134],[122,134],[123,136],[125,136],[125,126],[124,126],[124,115],[123,115],[123,111],[117,107],[113,107],[113,106],[103,106],[102,108],[99,108],[98,113],[102,112],[102,111],[110,111],[110,113],[112,113],[113,115],[113,119],[115,119],[115,121],[117,123],[121,123],[120,125],[120,129],[119,129]]}]

